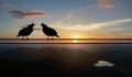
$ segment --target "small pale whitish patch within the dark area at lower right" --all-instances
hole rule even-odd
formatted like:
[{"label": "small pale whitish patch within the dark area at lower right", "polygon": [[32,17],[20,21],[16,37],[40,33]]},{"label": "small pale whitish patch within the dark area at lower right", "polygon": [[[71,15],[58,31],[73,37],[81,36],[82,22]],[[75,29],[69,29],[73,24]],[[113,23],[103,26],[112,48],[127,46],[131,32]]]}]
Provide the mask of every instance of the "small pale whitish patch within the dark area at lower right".
[{"label": "small pale whitish patch within the dark area at lower right", "polygon": [[113,67],[114,64],[106,61],[98,61],[98,63],[95,64],[96,67]]}]

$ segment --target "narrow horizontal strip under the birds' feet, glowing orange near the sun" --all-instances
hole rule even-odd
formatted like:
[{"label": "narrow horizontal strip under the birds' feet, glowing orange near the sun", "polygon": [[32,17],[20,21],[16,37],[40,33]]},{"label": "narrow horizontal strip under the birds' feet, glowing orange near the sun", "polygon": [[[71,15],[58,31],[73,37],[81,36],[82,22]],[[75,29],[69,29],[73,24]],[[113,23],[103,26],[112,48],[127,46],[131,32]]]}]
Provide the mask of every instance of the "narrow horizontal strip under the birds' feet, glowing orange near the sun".
[{"label": "narrow horizontal strip under the birds' feet, glowing orange near the sun", "polygon": [[0,38],[0,44],[132,44],[132,38]]}]

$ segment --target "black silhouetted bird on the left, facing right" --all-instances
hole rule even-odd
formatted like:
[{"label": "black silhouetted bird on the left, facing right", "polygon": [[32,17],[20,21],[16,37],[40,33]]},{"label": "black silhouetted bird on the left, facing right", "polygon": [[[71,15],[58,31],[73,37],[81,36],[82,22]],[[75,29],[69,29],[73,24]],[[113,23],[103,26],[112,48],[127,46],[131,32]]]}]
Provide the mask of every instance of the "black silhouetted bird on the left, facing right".
[{"label": "black silhouetted bird on the left, facing right", "polygon": [[25,36],[26,40],[29,40],[28,36],[33,32],[33,26],[34,26],[34,25],[35,25],[35,24],[32,23],[32,24],[29,24],[26,28],[23,28],[22,30],[20,30],[20,32],[19,32],[19,34],[16,35],[16,37],[22,36],[22,40],[24,40],[23,36]]}]

